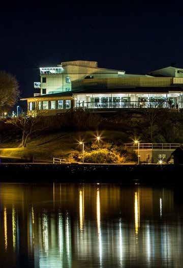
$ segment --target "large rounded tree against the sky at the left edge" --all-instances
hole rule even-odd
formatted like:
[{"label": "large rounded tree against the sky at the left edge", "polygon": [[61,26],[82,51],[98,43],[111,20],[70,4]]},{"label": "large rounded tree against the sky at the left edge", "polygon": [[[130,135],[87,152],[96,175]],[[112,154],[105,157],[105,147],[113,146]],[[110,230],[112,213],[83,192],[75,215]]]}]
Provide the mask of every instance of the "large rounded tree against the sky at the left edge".
[{"label": "large rounded tree against the sky at the left edge", "polygon": [[19,93],[16,77],[5,71],[0,71],[0,110],[3,106],[13,106]]}]

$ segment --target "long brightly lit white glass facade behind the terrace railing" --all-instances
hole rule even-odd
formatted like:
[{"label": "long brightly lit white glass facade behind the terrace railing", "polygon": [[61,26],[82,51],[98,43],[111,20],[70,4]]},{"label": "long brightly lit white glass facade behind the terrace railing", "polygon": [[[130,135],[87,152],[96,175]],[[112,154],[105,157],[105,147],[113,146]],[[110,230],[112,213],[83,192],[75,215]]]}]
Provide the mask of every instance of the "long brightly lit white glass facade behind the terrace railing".
[{"label": "long brightly lit white glass facade behind the terrace railing", "polygon": [[169,108],[182,109],[180,93],[169,94],[88,94],[77,95],[76,107],[88,109],[105,108]]}]

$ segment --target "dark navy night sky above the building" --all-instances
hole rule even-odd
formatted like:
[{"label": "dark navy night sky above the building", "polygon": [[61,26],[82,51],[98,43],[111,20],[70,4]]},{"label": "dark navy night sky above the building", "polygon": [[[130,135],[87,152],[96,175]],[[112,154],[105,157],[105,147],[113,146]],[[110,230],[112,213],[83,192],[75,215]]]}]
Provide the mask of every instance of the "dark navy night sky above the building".
[{"label": "dark navy night sky above the building", "polygon": [[1,6],[0,70],[16,75],[25,97],[40,81],[39,67],[63,61],[98,61],[127,73],[183,67],[181,2],[150,2]]}]

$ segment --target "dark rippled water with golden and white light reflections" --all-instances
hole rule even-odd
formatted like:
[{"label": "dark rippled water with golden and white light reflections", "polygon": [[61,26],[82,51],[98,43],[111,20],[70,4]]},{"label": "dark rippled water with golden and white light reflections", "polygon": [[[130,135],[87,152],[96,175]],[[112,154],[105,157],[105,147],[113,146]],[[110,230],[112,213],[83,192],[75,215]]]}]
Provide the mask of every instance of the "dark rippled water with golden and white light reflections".
[{"label": "dark rippled water with golden and white light reflections", "polygon": [[112,184],[0,189],[0,267],[183,266],[181,191],[177,198],[171,189]]}]

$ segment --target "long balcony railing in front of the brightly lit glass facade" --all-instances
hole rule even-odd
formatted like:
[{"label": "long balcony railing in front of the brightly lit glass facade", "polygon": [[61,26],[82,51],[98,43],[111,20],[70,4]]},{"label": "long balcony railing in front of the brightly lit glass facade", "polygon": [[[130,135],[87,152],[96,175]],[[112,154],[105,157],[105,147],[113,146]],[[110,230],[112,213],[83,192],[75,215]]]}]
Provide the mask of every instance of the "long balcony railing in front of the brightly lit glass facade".
[{"label": "long balcony railing in front of the brightly lit glass facade", "polygon": [[169,108],[178,109],[178,104],[168,101],[109,101],[109,102],[77,102],[76,108],[86,109],[120,109],[120,108]]}]

